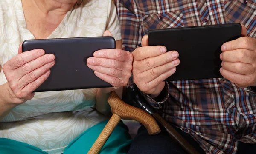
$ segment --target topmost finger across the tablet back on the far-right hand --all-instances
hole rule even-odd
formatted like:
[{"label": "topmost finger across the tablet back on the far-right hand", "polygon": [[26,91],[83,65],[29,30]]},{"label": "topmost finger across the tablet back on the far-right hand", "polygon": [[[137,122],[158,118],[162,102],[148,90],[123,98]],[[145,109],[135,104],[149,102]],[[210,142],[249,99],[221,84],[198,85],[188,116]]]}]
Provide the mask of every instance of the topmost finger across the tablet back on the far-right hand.
[{"label": "topmost finger across the tablet back on the far-right hand", "polygon": [[251,37],[240,37],[236,40],[226,42],[221,46],[221,51],[223,52],[236,49],[256,51],[256,39]]}]

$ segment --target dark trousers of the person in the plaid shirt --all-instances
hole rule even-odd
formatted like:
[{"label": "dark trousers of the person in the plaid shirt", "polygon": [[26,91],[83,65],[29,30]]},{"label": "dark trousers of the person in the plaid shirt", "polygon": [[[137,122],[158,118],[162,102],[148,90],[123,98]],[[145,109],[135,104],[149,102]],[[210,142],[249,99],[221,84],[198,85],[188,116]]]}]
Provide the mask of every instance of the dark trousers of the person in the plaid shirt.
[{"label": "dark trousers of the person in the plaid shirt", "polygon": [[[175,128],[175,127],[174,127]],[[175,128],[200,154],[205,154],[198,143],[187,133]],[[187,154],[181,146],[173,141],[162,128],[157,135],[148,135],[144,126],[138,130],[137,136],[131,143],[128,154]],[[239,142],[237,154],[255,154],[256,144]]]}]

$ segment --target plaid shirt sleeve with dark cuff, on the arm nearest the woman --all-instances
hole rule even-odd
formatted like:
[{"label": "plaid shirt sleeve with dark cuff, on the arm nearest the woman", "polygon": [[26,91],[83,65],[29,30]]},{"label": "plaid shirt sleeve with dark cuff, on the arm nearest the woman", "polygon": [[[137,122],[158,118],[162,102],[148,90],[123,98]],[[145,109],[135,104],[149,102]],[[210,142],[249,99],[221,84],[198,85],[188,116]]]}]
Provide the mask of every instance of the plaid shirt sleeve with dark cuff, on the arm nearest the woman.
[{"label": "plaid shirt sleeve with dark cuff, on the arm nearest the woman", "polygon": [[[134,51],[136,48],[141,47],[141,40],[144,36],[142,26],[140,25],[140,22],[137,19],[136,14],[134,14],[134,8],[132,7],[131,3],[126,1],[126,3],[122,3],[122,1],[115,0],[115,4],[118,9],[118,16],[119,20],[121,21],[121,27],[122,27],[122,47],[126,51]],[[128,85],[131,85],[133,83],[132,77],[130,78],[130,81]],[[148,94],[145,94],[141,91],[141,94],[145,99],[148,101],[148,103],[153,106],[156,109],[161,108],[161,104],[166,102],[166,100],[169,97],[169,90],[168,90],[169,83],[166,82],[166,85],[164,88],[166,88],[164,91],[166,94],[163,94],[162,99],[160,101],[155,101],[153,98],[151,98]]]}]

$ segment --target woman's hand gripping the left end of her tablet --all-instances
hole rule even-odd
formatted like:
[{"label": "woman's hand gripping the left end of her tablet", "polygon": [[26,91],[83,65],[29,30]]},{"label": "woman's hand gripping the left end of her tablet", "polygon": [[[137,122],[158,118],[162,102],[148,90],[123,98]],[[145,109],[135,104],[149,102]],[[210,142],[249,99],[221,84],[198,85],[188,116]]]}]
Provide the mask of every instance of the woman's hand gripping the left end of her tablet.
[{"label": "woman's hand gripping the left end of her tablet", "polygon": [[50,74],[50,68],[55,64],[53,54],[45,54],[44,50],[32,50],[22,53],[20,43],[18,55],[3,65],[3,73],[7,79],[11,103],[24,103],[32,99],[38,88]]}]

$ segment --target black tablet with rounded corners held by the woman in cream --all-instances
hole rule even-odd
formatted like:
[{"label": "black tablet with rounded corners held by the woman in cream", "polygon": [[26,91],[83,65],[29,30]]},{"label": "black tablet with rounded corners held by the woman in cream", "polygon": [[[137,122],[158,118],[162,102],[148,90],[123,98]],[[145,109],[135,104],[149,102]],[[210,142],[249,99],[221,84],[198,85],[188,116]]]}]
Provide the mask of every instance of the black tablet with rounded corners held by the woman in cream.
[{"label": "black tablet with rounded corners held by the woman in cream", "polygon": [[113,37],[79,37],[25,40],[23,51],[43,49],[55,55],[48,79],[34,92],[111,87],[87,66],[87,58],[100,49],[116,48]]}]

